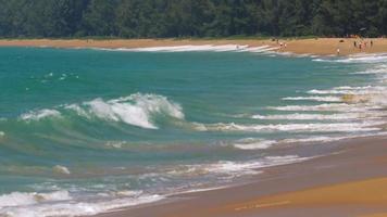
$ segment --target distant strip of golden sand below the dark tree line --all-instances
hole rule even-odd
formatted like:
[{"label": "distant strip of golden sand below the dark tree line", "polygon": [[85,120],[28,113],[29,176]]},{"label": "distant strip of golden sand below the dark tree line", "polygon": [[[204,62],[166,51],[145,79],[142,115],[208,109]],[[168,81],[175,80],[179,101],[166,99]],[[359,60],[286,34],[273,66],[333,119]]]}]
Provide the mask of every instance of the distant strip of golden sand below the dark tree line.
[{"label": "distant strip of golden sand below the dark tree line", "polygon": [[[353,38],[309,38],[309,39],[0,39],[0,47],[50,47],[50,48],[153,48],[203,44],[240,44],[249,47],[270,46],[283,49],[277,52],[314,55],[349,55],[357,53],[387,53],[387,39],[363,39],[367,46],[354,47],[361,41]],[[341,42],[340,42],[341,41]],[[373,46],[371,46],[373,41]],[[286,48],[285,48],[286,44]]]}]

